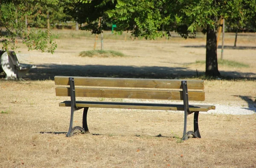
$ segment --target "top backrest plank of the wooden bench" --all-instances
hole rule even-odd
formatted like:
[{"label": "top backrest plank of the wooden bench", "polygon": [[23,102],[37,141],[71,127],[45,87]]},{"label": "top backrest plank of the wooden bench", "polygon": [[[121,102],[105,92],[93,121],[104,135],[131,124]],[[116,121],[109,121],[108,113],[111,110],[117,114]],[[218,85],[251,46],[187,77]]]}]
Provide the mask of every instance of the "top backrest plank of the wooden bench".
[{"label": "top backrest plank of the wooden bench", "polygon": [[[69,85],[68,77],[55,76],[55,85]],[[75,86],[181,89],[182,80],[74,77]],[[204,89],[204,80],[187,80],[188,89]]]}]

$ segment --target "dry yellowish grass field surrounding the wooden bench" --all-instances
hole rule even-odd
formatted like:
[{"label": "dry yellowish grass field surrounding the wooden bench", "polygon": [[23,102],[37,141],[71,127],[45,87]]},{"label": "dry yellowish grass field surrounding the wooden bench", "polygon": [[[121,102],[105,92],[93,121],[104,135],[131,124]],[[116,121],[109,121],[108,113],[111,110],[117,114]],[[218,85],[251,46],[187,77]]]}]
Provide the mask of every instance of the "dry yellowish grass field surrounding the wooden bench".
[{"label": "dry yellowish grass field surrounding the wooden bench", "polygon": [[[236,48],[234,34],[227,34],[225,61],[219,64],[222,77],[205,79],[202,34],[195,40],[174,34],[168,41],[129,36],[125,41],[125,34],[106,32],[105,50],[125,56],[80,57],[80,52],[93,50],[93,35],[54,32],[59,34],[55,54],[26,51],[19,43],[20,63],[37,65],[25,81],[0,79],[0,168],[256,166],[256,34],[239,34]],[[55,96],[56,75],[205,79],[206,104],[223,105],[227,111],[245,108],[255,114],[199,114],[202,138],[182,142],[182,111],[90,108],[90,134],[67,138],[70,108],[58,103],[69,98]],[[75,113],[74,125],[81,126],[81,120],[82,110]],[[191,115],[190,129],[192,120]]]}]

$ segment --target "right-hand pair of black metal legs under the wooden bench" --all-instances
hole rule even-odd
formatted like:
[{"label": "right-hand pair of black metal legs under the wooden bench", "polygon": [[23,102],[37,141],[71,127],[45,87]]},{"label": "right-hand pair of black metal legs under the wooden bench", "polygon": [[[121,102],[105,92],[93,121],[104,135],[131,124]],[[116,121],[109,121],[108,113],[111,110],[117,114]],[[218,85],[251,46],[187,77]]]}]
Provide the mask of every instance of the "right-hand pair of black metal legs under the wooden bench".
[{"label": "right-hand pair of black metal legs under the wooden bench", "polygon": [[189,114],[185,114],[184,118],[184,131],[183,131],[183,138],[182,140],[188,140],[189,136],[192,135],[193,138],[201,138],[199,128],[198,128],[198,115],[199,111],[194,112],[194,131],[186,132],[186,123],[187,123],[187,116]]}]

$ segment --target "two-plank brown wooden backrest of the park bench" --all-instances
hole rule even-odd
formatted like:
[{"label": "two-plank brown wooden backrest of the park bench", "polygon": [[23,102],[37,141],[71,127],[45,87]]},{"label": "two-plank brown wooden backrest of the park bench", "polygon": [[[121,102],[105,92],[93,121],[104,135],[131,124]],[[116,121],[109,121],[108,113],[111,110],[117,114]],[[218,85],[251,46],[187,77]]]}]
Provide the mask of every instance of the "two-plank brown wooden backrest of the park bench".
[{"label": "two-plank brown wooden backrest of the park bench", "polygon": [[[181,81],[74,77],[76,97],[183,100]],[[55,88],[56,96],[70,96],[69,77],[55,76],[55,85],[62,85]],[[205,100],[203,80],[187,80],[187,88],[189,100]]]}]

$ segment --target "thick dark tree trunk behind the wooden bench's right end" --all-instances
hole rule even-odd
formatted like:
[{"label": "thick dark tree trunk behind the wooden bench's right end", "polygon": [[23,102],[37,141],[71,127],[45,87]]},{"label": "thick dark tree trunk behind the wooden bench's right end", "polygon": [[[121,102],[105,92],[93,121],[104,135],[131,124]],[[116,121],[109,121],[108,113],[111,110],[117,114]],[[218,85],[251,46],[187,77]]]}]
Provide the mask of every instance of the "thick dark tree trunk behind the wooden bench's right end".
[{"label": "thick dark tree trunk behind the wooden bench's right end", "polygon": [[218,71],[217,62],[217,31],[215,28],[207,26],[206,37],[206,70],[205,75],[210,77],[218,77],[220,73]]}]

